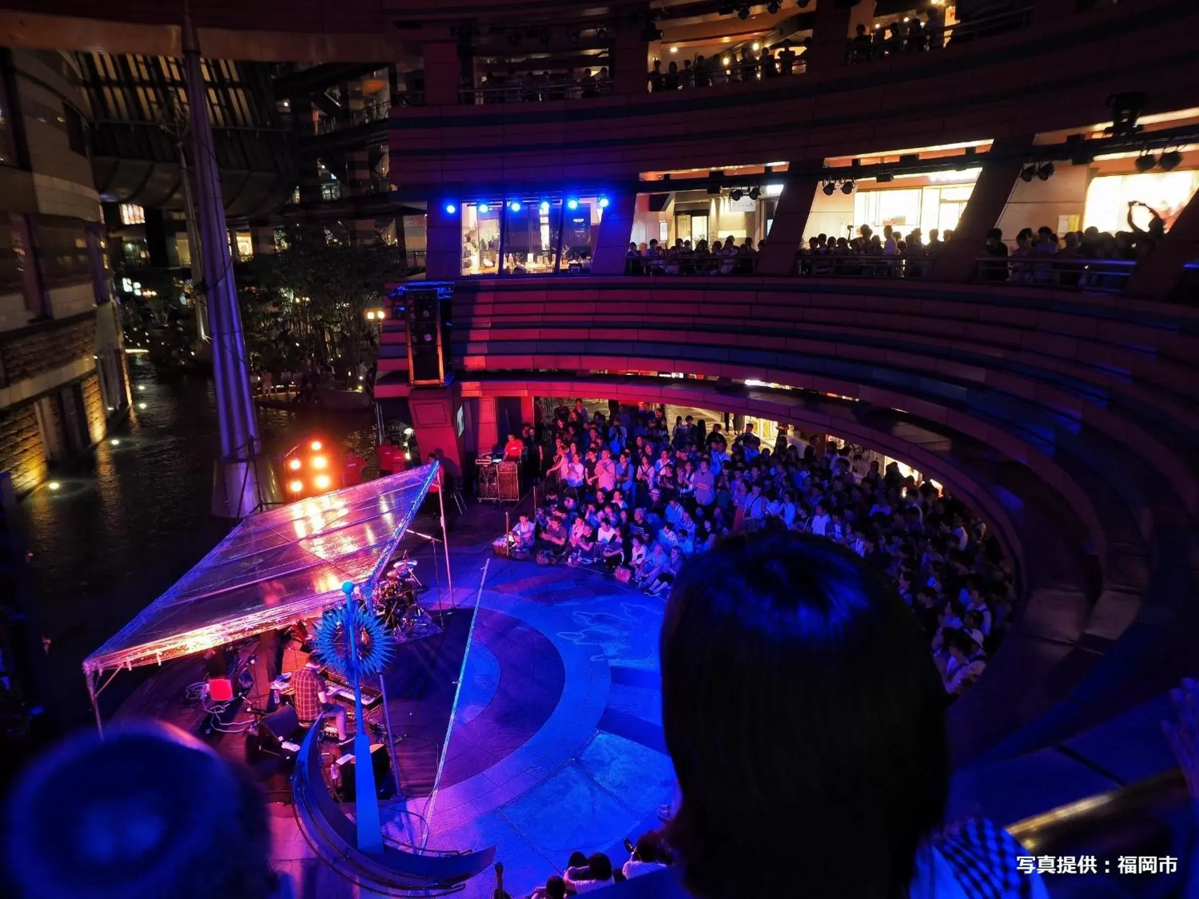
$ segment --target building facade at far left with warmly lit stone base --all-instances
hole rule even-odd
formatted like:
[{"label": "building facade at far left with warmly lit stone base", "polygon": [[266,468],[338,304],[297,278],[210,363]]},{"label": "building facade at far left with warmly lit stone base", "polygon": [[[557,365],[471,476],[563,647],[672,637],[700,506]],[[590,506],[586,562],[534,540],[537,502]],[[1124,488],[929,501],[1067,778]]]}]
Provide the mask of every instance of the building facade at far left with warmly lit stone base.
[{"label": "building facade at far left with warmly lit stone base", "polygon": [[0,50],[0,469],[17,493],[128,409],[71,54]]}]

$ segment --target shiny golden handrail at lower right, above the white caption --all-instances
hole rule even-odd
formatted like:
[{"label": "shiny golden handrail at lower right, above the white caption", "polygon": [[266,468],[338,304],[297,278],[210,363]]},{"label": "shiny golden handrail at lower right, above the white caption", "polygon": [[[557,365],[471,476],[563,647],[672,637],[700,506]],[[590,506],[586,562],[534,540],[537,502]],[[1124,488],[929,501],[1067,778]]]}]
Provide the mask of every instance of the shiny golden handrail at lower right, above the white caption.
[{"label": "shiny golden handrail at lower right, above the white caption", "polygon": [[1016,821],[1007,826],[1007,832],[1034,855],[1056,855],[1084,840],[1110,834],[1115,826],[1144,821],[1144,815],[1137,813],[1186,801],[1182,772],[1171,768]]}]

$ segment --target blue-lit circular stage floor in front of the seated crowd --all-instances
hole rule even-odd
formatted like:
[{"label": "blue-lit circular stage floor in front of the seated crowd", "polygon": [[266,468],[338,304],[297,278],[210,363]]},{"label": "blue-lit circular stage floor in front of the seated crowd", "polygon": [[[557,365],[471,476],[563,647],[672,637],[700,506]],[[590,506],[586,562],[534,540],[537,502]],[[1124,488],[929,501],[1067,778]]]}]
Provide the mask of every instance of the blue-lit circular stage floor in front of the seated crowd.
[{"label": "blue-lit circular stage floor in front of the seated crowd", "polygon": [[[414,527],[432,531],[427,517]],[[430,849],[495,845],[505,887],[524,897],[560,873],[572,850],[607,851],[623,861],[621,839],[658,826],[657,808],[673,797],[657,656],[664,603],[597,572],[495,557],[490,541],[502,529],[502,511],[478,506],[456,523],[450,559],[458,610],[446,615],[442,633],[399,646],[387,671],[388,708],[400,737],[400,796],[382,802],[380,811],[386,834],[404,843],[420,845],[428,817]],[[429,544],[403,545],[430,584]],[[422,593],[422,604],[433,605],[434,592],[430,586]],[[152,714],[195,732],[201,712],[185,707],[182,696],[201,677],[194,659],[164,665],[115,719]],[[429,809],[447,729],[440,789]],[[243,736],[209,740],[222,753],[245,758]],[[282,778],[263,771],[261,780],[283,797]],[[313,856],[289,804],[271,809],[277,867],[293,875],[300,897],[366,894]],[[462,895],[490,899],[493,889],[494,880],[480,875]]]}]

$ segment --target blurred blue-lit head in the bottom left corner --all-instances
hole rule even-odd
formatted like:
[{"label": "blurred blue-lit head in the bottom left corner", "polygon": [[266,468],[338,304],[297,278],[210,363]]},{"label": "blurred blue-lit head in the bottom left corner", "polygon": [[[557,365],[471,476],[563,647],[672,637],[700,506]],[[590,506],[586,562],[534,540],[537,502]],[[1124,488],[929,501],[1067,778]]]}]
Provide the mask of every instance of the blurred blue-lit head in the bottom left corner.
[{"label": "blurred blue-lit head in the bottom left corner", "polygon": [[6,817],[7,868],[29,899],[278,894],[258,788],[168,725],[67,741],[24,773]]}]

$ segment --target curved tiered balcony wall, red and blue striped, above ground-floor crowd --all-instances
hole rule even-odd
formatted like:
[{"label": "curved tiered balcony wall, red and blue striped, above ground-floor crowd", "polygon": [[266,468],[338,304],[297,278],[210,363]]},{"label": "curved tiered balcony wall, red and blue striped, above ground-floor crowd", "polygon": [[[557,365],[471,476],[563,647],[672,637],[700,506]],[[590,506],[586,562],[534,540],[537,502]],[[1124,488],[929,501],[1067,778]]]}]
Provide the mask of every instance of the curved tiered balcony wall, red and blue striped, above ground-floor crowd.
[{"label": "curved tiered balcony wall, red and blue striped, above ground-floor crowd", "polygon": [[[1025,609],[953,706],[959,762],[1053,746],[1185,672],[1199,309],[818,277],[534,277],[456,291],[464,398],[772,417],[908,459],[990,520]],[[381,361],[376,396],[403,393],[403,366]]]}]

